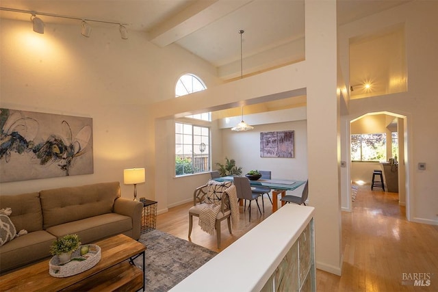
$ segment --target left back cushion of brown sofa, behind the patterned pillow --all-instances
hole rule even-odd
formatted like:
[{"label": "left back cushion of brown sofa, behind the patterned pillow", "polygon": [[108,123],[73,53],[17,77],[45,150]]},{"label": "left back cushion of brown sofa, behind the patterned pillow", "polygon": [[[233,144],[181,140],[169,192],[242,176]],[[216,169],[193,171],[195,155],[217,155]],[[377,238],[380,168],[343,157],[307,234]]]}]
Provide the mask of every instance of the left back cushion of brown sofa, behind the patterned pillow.
[{"label": "left back cushion of brown sofa, behind the patterned pillow", "polygon": [[39,196],[38,193],[0,196],[0,206],[12,209],[10,218],[16,230],[25,229],[28,233],[42,230],[42,211]]}]

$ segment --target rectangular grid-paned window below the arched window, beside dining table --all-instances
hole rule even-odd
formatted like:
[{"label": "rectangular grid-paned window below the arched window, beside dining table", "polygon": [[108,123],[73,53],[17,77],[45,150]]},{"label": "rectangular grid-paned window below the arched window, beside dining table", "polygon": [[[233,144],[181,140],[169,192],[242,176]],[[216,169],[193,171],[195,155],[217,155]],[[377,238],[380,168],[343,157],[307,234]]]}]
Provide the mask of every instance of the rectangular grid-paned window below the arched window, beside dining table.
[{"label": "rectangular grid-paned window below the arched window, beside dining table", "polygon": [[175,122],[175,174],[210,170],[210,129]]}]

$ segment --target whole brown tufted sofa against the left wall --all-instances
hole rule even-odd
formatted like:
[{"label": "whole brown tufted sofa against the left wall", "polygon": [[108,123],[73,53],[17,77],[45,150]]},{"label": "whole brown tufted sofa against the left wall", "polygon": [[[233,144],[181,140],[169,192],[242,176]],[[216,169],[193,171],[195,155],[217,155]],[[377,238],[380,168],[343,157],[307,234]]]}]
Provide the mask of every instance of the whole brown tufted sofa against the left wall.
[{"label": "whole brown tufted sofa against the left wall", "polygon": [[7,207],[16,231],[27,234],[0,246],[0,274],[51,256],[51,243],[67,234],[82,243],[120,233],[140,238],[143,204],[121,198],[118,182],[0,196],[0,208]]}]

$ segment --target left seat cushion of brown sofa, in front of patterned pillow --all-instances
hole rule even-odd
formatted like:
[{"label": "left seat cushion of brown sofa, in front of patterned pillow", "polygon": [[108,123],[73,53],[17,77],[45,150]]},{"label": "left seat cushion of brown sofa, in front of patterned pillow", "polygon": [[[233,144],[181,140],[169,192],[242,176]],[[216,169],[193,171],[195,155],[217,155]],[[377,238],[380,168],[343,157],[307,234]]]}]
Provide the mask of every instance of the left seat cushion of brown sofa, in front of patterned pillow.
[{"label": "left seat cushion of brown sofa, in front of patterned pillow", "polygon": [[46,231],[35,231],[16,237],[0,247],[1,273],[49,258],[50,245],[56,239]]}]

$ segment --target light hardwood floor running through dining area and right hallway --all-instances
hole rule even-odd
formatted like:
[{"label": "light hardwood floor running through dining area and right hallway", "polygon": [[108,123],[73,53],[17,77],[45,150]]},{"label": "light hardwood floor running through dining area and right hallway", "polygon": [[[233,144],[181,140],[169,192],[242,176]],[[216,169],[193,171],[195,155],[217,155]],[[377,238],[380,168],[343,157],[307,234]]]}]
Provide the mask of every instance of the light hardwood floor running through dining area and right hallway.
[{"label": "light hardwood floor running through dining area and right hallway", "polygon": [[[262,215],[253,203],[251,222],[248,211],[244,213],[241,207],[240,230],[233,230],[233,235],[229,234],[226,222],[222,222],[222,249],[271,214],[268,198],[264,203]],[[188,239],[191,206],[192,203],[183,204],[158,215],[157,229]],[[398,205],[398,194],[376,188],[371,191],[370,185],[359,187],[352,207],[352,212],[342,212],[342,276],[317,269],[318,291],[438,291],[438,226],[408,222],[405,208]],[[203,232],[196,217],[188,240],[220,252],[216,236]],[[407,276],[428,273],[430,285],[402,284],[403,273]]]}]

